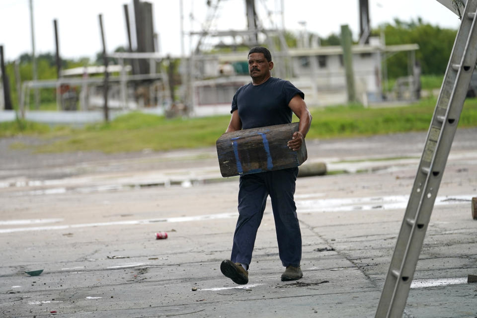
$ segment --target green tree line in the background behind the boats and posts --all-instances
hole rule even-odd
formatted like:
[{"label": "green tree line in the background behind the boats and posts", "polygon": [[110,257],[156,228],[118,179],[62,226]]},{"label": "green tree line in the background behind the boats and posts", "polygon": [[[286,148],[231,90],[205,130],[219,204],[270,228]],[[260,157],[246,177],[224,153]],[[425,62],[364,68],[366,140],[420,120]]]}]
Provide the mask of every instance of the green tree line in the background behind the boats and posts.
[{"label": "green tree line in the background behind the boats and posts", "polygon": [[[410,22],[395,19],[391,23],[381,25],[373,29],[371,36],[385,38],[386,45],[410,44],[419,45],[416,51],[416,61],[421,66],[423,75],[443,75],[445,73],[450,53],[454,44],[457,30],[440,28],[439,26],[424,23],[422,19]],[[310,34],[309,40],[317,39],[318,36]],[[289,47],[297,47],[298,36],[291,32],[286,32],[285,39]],[[338,34],[330,34],[327,37],[319,38],[321,46],[340,45]],[[244,48],[246,49],[246,48]],[[115,52],[124,52],[124,47],[118,47]],[[55,79],[57,77],[56,61],[54,54],[44,53],[37,56],[37,77],[38,79]],[[111,61],[114,64],[115,61]],[[6,74],[10,80],[12,98],[16,101],[16,85],[14,62],[6,63]],[[17,63],[19,63],[19,73],[21,80],[32,79],[32,57],[30,54],[22,54]],[[102,53],[96,54],[96,59],[91,61],[89,58],[80,58],[77,60],[62,59],[62,68],[83,67],[85,65],[102,65]],[[407,74],[407,53],[400,52],[387,59],[388,77],[395,79]],[[41,90],[42,101],[54,101],[56,98],[54,90]]]}]

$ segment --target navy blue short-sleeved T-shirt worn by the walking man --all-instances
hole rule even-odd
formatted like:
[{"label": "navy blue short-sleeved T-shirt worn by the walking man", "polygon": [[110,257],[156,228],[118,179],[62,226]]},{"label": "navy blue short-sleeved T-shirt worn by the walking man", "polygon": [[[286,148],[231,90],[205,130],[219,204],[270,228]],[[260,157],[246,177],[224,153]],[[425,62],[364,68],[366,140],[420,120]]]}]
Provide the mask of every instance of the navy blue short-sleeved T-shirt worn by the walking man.
[{"label": "navy blue short-sleeved T-shirt worn by the walking man", "polygon": [[239,110],[242,129],[289,124],[292,122],[290,100],[305,94],[288,80],[269,78],[260,85],[251,82],[240,87],[232,100],[232,111]]}]

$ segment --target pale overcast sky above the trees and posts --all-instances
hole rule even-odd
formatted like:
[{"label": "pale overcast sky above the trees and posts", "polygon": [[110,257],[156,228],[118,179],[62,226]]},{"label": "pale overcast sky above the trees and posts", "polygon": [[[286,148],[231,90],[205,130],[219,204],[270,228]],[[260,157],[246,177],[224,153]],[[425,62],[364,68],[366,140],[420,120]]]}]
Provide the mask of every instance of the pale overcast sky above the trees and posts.
[{"label": "pale overcast sky above the trees and posts", "polygon": [[[449,0],[450,1],[450,0]],[[149,0],[153,3],[155,31],[159,34],[161,53],[181,53],[179,0]],[[184,31],[199,31],[206,21],[206,0],[183,0]],[[212,1],[215,2],[215,1]],[[244,0],[222,0],[213,29],[244,29]],[[306,29],[321,37],[338,34],[348,24],[357,39],[358,0],[283,0],[285,27],[291,31]],[[0,44],[6,60],[31,52],[29,0],[0,0]],[[259,17],[265,27],[271,20],[281,26],[281,0],[256,0]],[[339,5],[336,5],[338,3]],[[60,54],[63,58],[93,57],[102,50],[98,14],[103,14],[106,47],[113,51],[127,45],[123,4],[132,0],[33,0],[36,52],[55,51],[53,20],[58,20]],[[443,28],[459,27],[457,15],[436,0],[369,0],[372,27],[391,22],[395,17],[409,21],[421,17]],[[268,12],[267,12],[268,11]],[[271,13],[269,19],[267,13]],[[130,14],[131,16],[132,14]],[[191,19],[192,16],[192,19]],[[191,43],[192,42],[192,43]],[[195,39],[184,39],[185,52]]]}]

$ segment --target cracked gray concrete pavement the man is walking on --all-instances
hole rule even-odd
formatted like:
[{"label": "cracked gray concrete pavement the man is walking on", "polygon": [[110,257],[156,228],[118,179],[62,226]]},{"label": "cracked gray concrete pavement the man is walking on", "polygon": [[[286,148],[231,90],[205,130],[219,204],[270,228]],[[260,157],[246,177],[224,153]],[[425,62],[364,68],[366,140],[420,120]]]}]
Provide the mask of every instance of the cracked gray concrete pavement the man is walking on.
[{"label": "cracked gray concrete pavement the man is walking on", "polygon": [[[403,317],[477,317],[475,136],[456,135]],[[311,162],[348,173],[297,181],[304,277],[280,281],[269,203],[238,286],[220,273],[238,182],[214,149],[31,155],[1,140],[0,316],[374,317],[424,141],[307,141]]]}]

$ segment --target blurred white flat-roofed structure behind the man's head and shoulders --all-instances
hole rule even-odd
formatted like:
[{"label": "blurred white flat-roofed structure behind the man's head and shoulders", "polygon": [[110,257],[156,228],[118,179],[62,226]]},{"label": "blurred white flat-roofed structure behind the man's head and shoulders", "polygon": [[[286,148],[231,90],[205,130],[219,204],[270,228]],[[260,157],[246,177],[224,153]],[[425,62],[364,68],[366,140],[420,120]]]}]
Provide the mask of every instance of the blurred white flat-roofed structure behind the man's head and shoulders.
[{"label": "blurred white flat-roofed structure behind the man's head and shoulders", "polygon": [[[386,57],[397,52],[408,52],[409,65],[412,66],[414,53],[418,49],[417,44],[384,46],[378,39],[373,38],[370,39],[370,44],[353,45],[352,64],[358,101],[365,105],[381,102],[383,77],[386,77],[383,76],[383,73],[386,73],[386,68],[383,70]],[[309,106],[347,102],[341,46],[290,48],[286,54],[271,53],[275,62],[272,76],[290,80],[305,93],[305,100]],[[194,59],[197,75],[207,78],[193,82],[194,114],[201,116],[230,112],[235,91],[241,85],[250,82],[247,52],[203,55]],[[287,70],[284,65],[288,66]],[[412,70],[412,67],[409,69]]]}]

